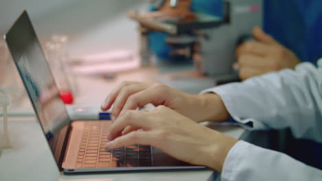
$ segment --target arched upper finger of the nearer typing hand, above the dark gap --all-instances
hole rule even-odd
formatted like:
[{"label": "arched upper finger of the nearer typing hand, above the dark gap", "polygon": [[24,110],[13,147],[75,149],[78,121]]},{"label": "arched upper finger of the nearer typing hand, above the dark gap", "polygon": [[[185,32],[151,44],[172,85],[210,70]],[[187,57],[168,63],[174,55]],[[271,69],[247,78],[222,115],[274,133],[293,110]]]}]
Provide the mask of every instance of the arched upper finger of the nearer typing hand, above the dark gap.
[{"label": "arched upper finger of the nearer typing hand, above the dark gap", "polygon": [[144,111],[123,110],[116,121],[111,125],[111,129],[109,130],[109,140],[114,140],[116,137],[122,135],[122,131],[128,125],[142,128],[143,130],[149,130],[151,121],[149,121],[149,117]]}]

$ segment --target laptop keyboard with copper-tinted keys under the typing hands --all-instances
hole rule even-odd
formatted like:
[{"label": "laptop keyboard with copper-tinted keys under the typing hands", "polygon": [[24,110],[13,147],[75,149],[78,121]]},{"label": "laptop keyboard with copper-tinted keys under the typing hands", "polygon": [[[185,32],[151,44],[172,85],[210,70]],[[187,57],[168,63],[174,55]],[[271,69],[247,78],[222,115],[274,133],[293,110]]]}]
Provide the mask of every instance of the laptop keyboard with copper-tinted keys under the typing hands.
[{"label": "laptop keyboard with copper-tinted keys under the typing hands", "polygon": [[78,149],[77,168],[149,167],[152,165],[151,146],[131,145],[105,149],[111,121],[85,123]]}]

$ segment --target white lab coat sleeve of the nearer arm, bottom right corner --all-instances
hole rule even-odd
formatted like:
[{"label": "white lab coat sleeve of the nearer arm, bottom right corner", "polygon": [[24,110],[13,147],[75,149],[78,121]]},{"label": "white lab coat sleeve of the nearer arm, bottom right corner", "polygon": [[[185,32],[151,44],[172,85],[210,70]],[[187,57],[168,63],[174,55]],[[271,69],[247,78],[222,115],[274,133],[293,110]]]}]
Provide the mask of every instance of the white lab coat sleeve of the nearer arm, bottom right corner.
[{"label": "white lab coat sleeve of the nearer arm, bottom right corner", "polygon": [[228,152],[222,181],[321,180],[322,171],[286,154],[238,141]]}]

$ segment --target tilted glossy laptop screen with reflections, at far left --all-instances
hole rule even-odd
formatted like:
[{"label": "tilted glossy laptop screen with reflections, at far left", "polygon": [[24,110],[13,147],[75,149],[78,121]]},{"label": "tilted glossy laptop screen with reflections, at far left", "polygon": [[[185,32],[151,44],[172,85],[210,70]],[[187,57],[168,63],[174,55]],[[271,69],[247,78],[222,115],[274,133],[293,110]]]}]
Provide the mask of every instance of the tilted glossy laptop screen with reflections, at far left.
[{"label": "tilted glossy laptop screen with reflections, at far left", "polygon": [[[32,106],[50,148],[58,162],[69,117],[59,95],[54,77],[32,27],[27,12],[23,12],[5,36]],[[62,135],[63,134],[63,135]]]}]

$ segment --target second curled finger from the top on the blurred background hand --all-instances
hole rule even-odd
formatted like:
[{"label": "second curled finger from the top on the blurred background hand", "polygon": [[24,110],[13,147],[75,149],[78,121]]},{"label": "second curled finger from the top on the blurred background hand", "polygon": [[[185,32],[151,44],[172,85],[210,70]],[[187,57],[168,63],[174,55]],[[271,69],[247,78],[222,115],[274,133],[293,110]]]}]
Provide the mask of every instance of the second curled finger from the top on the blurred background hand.
[{"label": "second curled finger from the top on the blurred background hand", "polygon": [[253,67],[255,69],[266,69],[268,63],[264,57],[253,54],[243,54],[237,59],[240,69],[242,67]]}]

